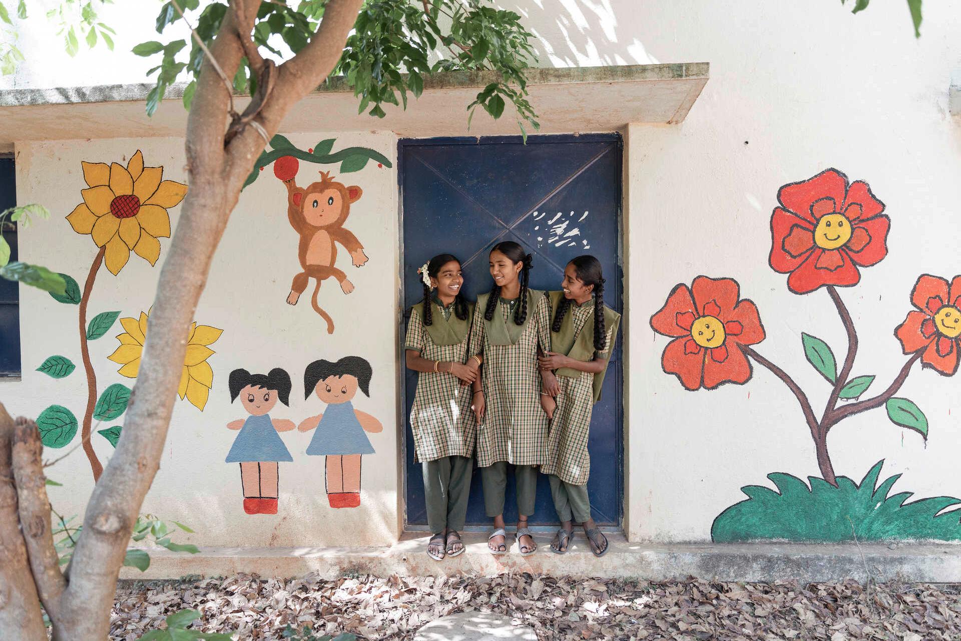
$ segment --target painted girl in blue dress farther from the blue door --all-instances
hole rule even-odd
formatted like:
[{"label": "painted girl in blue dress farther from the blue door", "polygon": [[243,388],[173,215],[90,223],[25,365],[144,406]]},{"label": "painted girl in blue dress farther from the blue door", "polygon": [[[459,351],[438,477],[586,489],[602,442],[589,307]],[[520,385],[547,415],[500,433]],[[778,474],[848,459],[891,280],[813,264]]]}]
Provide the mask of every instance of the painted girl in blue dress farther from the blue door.
[{"label": "painted girl in blue dress farther from the blue door", "polygon": [[240,431],[226,460],[240,463],[243,510],[248,514],[276,514],[279,463],[293,460],[277,432],[291,431],[296,426],[287,419],[270,418],[267,412],[278,401],[289,406],[290,375],[279,367],[266,375],[235,369],[229,387],[231,403],[239,396],[240,404],[250,414],[227,424],[231,430]]}]

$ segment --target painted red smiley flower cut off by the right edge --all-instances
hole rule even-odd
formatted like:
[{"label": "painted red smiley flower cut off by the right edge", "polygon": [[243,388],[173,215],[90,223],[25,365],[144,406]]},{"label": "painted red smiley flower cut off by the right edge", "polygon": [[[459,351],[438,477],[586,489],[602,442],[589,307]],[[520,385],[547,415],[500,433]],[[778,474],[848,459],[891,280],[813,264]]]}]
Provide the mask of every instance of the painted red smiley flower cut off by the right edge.
[{"label": "painted red smiley flower cut off by the right edge", "polygon": [[921,362],[945,376],[958,371],[961,349],[961,276],[946,279],[924,274],[911,291],[911,303],[918,310],[895,330],[904,354],[924,350]]}]

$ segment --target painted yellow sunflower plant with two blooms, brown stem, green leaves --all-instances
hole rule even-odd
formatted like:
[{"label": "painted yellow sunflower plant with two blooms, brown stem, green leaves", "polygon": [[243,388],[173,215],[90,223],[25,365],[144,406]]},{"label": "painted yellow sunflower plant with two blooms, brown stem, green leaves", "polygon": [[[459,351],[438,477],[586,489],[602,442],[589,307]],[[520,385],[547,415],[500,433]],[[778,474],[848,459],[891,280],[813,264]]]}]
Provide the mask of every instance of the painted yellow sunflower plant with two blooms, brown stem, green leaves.
[{"label": "painted yellow sunflower plant with two blooms, brown stem, green leaves", "polygon": [[[108,333],[120,315],[119,310],[103,311],[87,321],[87,304],[96,284],[100,267],[106,265],[112,275],[118,276],[130,260],[131,252],[145,259],[152,266],[160,259],[160,240],[170,236],[170,210],[184,200],[187,186],[177,181],[163,179],[162,166],[146,166],[143,154],[137,150],[127,161],[82,161],[86,187],[81,188],[82,202],[66,216],[70,227],[77,234],[89,235],[98,248],[90,264],[83,289],[75,279],[61,274],[66,283],[63,294],[51,296],[65,305],[78,306],[80,329],[80,354],[86,374],[86,411],[82,421],[67,407],[55,405],[44,409],[37,417],[40,438],[46,447],[62,448],[69,444],[77,431],[81,432],[82,446],[90,463],[94,480],[100,478],[103,465],[90,442],[93,421],[112,421],[123,414],[130,401],[131,389],[123,383],[112,383],[98,395],[97,377],[90,359],[88,343]],[[129,321],[133,321],[130,325]],[[147,315],[141,313],[140,321],[121,319],[128,332],[120,334],[121,346],[111,359],[121,362],[119,373],[128,378],[136,377],[139,356],[146,334]],[[140,324],[143,325],[142,329]],[[136,331],[131,331],[136,326]],[[203,329],[202,329],[203,328]],[[207,347],[220,336],[220,330],[208,326],[190,329],[190,348],[185,362],[185,380],[181,382],[180,396],[199,409],[207,403],[213,380],[213,372],[207,358],[213,354]],[[128,341],[128,342],[125,342]],[[136,355],[134,354],[136,351]],[[69,376],[75,369],[73,361],[62,355],[46,358],[37,371],[55,379]],[[121,435],[120,426],[99,430],[113,447]]]}]

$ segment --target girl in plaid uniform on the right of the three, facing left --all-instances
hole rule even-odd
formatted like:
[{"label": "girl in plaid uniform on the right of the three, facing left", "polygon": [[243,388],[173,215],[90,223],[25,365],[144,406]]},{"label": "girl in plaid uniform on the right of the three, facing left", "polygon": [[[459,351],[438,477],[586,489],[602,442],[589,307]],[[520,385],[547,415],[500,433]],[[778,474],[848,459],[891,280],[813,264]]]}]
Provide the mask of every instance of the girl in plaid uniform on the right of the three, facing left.
[{"label": "girl in plaid uniform on the right of the three, facing left", "polygon": [[547,387],[555,394],[548,402],[552,418],[547,456],[541,466],[541,472],[549,475],[554,509],[561,522],[551,550],[558,555],[567,552],[573,521],[577,521],[583,525],[591,552],[603,556],[607,539],[591,518],[587,497],[591,468],[587,436],[621,316],[604,306],[604,275],[601,262],[593,256],[579,256],[567,263],[561,287],[561,291],[548,292],[554,320],[547,351],[539,358],[545,380],[556,376],[557,382]]}]

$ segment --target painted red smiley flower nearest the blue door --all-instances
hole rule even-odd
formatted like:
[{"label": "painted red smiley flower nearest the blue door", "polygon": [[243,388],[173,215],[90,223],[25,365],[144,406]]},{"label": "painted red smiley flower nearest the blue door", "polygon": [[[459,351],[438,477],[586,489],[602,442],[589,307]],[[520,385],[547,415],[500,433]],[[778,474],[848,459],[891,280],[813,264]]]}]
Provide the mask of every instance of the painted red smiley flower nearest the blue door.
[{"label": "painted red smiley flower nearest the blue door", "polygon": [[751,363],[741,346],[764,340],[764,328],[752,301],[738,296],[735,281],[699,276],[690,288],[678,284],[651,317],[654,332],[675,337],[664,349],[661,365],[687,389],[751,378]]}]

